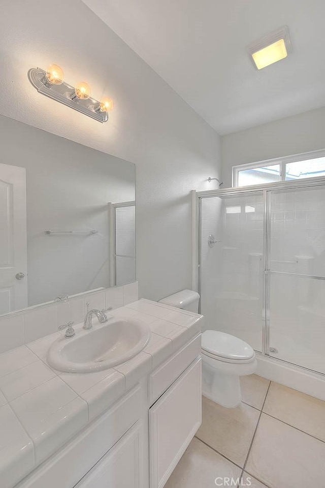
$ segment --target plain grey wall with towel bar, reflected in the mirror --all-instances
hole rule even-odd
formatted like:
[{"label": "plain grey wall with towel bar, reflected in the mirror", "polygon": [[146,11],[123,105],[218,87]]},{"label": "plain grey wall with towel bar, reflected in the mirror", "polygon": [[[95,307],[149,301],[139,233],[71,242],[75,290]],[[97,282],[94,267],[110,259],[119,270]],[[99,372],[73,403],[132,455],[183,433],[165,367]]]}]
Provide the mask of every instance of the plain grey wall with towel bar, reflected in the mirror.
[{"label": "plain grey wall with towel bar, reflected in the mirror", "polygon": [[[3,116],[0,148],[2,163],[26,169],[28,305],[107,288],[108,202],[134,199],[134,164]],[[98,234],[44,234],[90,228]]]}]

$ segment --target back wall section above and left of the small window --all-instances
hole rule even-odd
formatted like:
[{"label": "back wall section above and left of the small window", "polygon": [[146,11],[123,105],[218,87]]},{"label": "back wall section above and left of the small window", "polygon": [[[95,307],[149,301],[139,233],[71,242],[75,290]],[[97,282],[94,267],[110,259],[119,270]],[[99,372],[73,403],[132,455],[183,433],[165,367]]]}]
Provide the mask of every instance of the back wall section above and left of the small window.
[{"label": "back wall section above and left of the small window", "polygon": [[324,149],[324,127],[325,107],[223,136],[223,187],[232,184],[232,166]]}]

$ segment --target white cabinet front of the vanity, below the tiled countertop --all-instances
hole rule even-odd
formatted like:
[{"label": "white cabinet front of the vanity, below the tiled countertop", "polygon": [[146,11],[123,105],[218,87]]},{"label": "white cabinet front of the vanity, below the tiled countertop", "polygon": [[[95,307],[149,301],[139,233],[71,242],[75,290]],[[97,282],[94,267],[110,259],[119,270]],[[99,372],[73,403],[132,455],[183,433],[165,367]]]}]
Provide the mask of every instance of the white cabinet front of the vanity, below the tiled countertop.
[{"label": "white cabinet front of the vanity, below the tiled countertop", "polygon": [[201,334],[14,488],[163,488],[201,424]]}]

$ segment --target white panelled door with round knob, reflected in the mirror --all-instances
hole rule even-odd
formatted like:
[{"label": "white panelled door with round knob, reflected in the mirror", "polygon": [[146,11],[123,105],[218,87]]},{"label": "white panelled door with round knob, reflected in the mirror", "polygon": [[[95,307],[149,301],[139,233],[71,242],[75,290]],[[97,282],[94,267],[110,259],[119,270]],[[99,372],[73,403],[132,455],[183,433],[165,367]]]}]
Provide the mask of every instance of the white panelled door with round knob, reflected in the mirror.
[{"label": "white panelled door with round knob, reflected in the mirror", "polygon": [[26,306],[26,170],[0,164],[0,315]]}]

